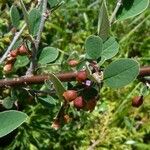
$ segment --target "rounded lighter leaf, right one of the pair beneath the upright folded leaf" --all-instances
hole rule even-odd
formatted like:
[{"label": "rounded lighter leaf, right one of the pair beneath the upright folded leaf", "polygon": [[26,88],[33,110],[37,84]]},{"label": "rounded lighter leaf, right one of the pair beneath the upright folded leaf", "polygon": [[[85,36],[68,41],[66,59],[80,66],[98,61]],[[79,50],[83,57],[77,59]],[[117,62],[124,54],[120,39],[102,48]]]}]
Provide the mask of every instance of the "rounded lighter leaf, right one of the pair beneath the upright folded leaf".
[{"label": "rounded lighter leaf, right one of the pair beneath the upright folded leaf", "polygon": [[110,37],[104,44],[103,44],[103,51],[101,53],[101,57],[105,60],[114,57],[119,50],[119,44],[115,40],[114,37]]}]

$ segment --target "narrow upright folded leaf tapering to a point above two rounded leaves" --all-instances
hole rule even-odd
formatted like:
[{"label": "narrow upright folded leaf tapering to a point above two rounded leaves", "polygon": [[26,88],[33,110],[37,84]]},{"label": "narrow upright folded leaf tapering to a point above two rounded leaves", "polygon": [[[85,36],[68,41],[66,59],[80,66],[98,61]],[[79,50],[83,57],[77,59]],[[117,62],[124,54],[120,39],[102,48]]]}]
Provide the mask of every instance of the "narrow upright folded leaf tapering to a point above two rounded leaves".
[{"label": "narrow upright folded leaf tapering to a point above two rounded leaves", "polygon": [[106,3],[103,1],[98,19],[98,35],[105,41],[109,37],[110,23],[106,8]]}]

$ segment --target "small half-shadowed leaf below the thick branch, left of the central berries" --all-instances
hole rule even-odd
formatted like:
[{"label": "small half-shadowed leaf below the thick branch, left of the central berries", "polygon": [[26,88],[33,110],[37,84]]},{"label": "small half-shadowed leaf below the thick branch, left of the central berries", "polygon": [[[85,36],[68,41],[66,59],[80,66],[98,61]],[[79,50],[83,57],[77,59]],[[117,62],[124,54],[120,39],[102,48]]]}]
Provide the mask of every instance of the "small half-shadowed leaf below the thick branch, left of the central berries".
[{"label": "small half-shadowed leaf below the thick branch, left of the central berries", "polygon": [[38,100],[39,100],[39,102],[43,105],[43,106],[45,106],[45,107],[47,107],[47,108],[50,108],[50,107],[52,107],[52,106],[55,106],[56,105],[56,100],[53,98],[53,97],[51,97],[51,96],[47,96],[47,97],[39,97],[38,98]]}]

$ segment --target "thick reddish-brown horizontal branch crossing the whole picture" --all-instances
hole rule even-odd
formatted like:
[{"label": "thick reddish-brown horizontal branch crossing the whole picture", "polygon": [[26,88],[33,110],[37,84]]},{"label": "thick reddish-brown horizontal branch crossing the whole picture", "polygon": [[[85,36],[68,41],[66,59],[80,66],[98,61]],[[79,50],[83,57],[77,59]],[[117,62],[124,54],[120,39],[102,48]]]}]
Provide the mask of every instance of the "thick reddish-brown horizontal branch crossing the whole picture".
[{"label": "thick reddish-brown horizontal branch crossing the whole picture", "polygon": [[[67,73],[59,73],[56,76],[62,82],[70,82],[74,81],[76,78],[77,72],[67,72]],[[145,76],[150,76],[150,66],[141,67],[138,78],[141,79]],[[45,80],[49,79],[49,75],[36,75],[36,76],[25,76],[13,79],[1,79],[0,87],[5,86],[21,86],[21,85],[29,85],[29,84],[42,84]]]}]

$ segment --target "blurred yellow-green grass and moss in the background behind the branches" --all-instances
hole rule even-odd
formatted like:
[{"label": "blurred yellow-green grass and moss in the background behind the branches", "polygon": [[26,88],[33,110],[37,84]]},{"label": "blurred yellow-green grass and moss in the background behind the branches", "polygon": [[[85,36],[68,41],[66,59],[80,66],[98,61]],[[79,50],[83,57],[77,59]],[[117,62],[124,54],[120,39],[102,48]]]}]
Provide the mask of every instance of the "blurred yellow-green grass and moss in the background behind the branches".
[{"label": "blurred yellow-green grass and moss in the background behind the branches", "polygon": [[[27,0],[25,2],[27,6],[34,3]],[[12,39],[9,17],[11,4],[12,2],[3,3],[1,6],[0,55]],[[114,1],[108,2],[109,14],[112,13],[114,4]],[[74,51],[83,54],[85,39],[97,31],[99,8],[100,1],[65,0],[47,19],[41,48],[43,45],[57,47],[64,51],[62,55],[70,55]],[[116,22],[112,26],[111,34],[120,43],[117,58],[135,57],[141,66],[150,63],[149,18],[150,10],[147,10],[135,18]],[[39,72],[45,70],[60,71],[61,67],[45,66]],[[17,73],[22,75],[22,72],[20,69]],[[139,94],[142,86],[135,81],[119,90],[104,87],[100,91],[100,101],[92,113],[71,110],[72,121],[57,131],[51,128],[51,124],[60,107],[59,102],[46,108],[38,103],[38,99],[34,102],[26,90],[14,88],[11,94],[17,96],[30,120],[19,127],[15,140],[8,147],[0,149],[85,150],[92,149],[93,146],[98,150],[149,150],[150,96],[144,98],[144,104],[140,108],[131,106],[132,97]],[[32,88],[41,87],[34,85]],[[8,93],[8,90],[0,91],[2,96]]]}]

